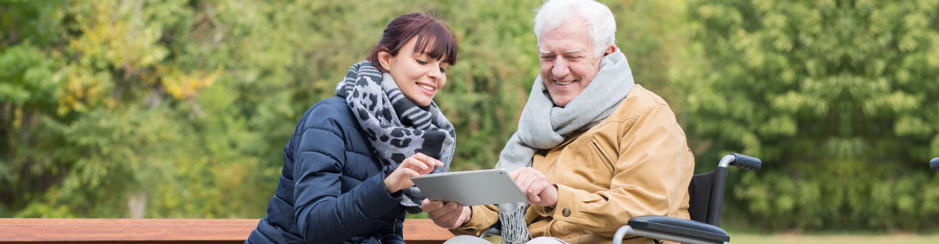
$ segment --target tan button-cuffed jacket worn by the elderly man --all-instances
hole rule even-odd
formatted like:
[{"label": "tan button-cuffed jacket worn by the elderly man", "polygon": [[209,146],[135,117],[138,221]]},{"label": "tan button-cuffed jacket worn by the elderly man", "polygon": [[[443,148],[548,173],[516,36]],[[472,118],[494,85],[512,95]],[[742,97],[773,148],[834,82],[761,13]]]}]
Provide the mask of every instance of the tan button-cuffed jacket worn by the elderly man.
[{"label": "tan button-cuffed jacket worn by the elderly man", "polygon": [[[685,131],[662,98],[640,85],[590,130],[535,153],[532,167],[558,187],[555,209],[531,206],[531,236],[566,242],[611,243],[616,230],[637,216],[688,219],[688,184],[694,155]],[[499,220],[495,206],[472,206],[469,222],[454,235],[479,235]],[[626,236],[623,243],[654,243]]]}]

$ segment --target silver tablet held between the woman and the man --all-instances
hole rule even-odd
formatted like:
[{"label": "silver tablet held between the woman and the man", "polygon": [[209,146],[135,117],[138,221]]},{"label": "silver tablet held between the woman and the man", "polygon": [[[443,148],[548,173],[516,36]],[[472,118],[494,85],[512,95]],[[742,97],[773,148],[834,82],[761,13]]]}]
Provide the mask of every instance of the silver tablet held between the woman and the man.
[{"label": "silver tablet held between the woman and the man", "polygon": [[503,169],[449,172],[411,177],[430,201],[479,206],[528,201]]}]

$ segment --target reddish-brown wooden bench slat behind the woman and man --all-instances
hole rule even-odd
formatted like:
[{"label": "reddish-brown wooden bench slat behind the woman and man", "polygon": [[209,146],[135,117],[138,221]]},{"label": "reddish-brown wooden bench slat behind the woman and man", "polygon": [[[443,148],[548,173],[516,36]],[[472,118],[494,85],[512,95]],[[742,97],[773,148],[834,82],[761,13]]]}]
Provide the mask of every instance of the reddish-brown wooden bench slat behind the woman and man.
[{"label": "reddish-brown wooden bench slat behind the woman and man", "polygon": [[[258,220],[199,219],[0,219],[3,244],[243,243]],[[405,220],[408,244],[443,243],[453,237],[430,220]]]}]

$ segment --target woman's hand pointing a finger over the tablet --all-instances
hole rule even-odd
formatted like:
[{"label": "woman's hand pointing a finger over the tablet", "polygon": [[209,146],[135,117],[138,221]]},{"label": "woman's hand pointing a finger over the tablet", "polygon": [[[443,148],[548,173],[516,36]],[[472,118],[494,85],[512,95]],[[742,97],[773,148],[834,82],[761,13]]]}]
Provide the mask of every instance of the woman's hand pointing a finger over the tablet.
[{"label": "woman's hand pointing a finger over the tablet", "polygon": [[443,162],[423,153],[416,153],[401,161],[398,168],[385,177],[385,189],[391,194],[413,187],[414,182],[411,182],[410,177],[430,174],[434,171],[434,166],[443,166]]}]

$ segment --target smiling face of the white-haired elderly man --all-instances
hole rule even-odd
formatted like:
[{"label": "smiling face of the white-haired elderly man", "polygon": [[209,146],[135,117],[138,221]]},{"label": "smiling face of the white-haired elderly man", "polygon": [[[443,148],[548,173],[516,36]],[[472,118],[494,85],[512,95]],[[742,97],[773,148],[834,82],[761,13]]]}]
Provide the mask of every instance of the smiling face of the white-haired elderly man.
[{"label": "smiling face of the white-haired elderly man", "polygon": [[542,33],[541,79],[555,105],[564,107],[587,88],[600,69],[593,53],[587,21],[577,14],[561,26]]}]

